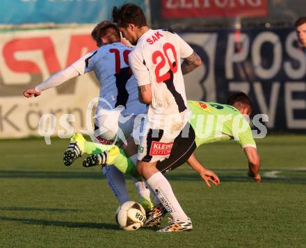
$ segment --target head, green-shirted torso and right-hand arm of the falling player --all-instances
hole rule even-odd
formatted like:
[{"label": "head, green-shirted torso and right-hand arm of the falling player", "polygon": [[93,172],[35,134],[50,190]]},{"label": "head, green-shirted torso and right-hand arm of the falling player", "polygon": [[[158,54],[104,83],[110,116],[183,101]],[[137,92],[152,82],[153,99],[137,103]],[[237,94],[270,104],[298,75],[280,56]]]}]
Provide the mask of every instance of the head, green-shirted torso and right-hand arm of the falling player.
[{"label": "head, green-shirted torso and right-hand arm of the falling player", "polygon": [[221,140],[236,140],[248,158],[248,175],[260,183],[260,158],[250,125],[245,119],[252,112],[248,96],[239,92],[233,94],[227,104],[188,101],[188,106],[192,112],[189,122],[195,131],[196,146]]}]

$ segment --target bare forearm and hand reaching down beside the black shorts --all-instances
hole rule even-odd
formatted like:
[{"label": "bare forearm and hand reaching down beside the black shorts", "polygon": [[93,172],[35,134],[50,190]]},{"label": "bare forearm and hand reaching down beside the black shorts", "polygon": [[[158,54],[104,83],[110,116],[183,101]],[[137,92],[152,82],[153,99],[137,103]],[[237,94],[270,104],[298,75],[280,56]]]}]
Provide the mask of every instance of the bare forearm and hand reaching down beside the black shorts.
[{"label": "bare forearm and hand reaching down beside the black shorts", "polygon": [[200,163],[200,161],[197,158],[195,158],[194,154],[191,154],[191,156],[187,160],[187,163],[188,165],[190,165],[191,168],[193,168],[193,170],[195,170],[196,172],[198,172],[198,174],[200,174],[200,176],[205,181],[207,186],[211,187],[209,181],[211,181],[212,183],[214,183],[214,185],[217,186],[220,184],[220,179],[218,178],[218,176],[214,174],[214,172],[212,172],[211,170],[207,170]]}]

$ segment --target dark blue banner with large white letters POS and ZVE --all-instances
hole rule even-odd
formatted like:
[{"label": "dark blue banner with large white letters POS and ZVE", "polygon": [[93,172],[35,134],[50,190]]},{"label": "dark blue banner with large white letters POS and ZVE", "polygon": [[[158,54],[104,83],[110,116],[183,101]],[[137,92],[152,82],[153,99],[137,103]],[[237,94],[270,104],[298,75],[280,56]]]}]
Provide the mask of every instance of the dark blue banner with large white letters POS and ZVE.
[{"label": "dark blue banner with large white letters POS and ZVE", "polygon": [[[306,56],[293,28],[182,33],[204,67],[188,78],[189,99],[224,103],[233,92],[252,99],[273,131],[306,132]],[[192,73],[191,73],[192,74]],[[186,79],[186,78],[185,78]]]}]

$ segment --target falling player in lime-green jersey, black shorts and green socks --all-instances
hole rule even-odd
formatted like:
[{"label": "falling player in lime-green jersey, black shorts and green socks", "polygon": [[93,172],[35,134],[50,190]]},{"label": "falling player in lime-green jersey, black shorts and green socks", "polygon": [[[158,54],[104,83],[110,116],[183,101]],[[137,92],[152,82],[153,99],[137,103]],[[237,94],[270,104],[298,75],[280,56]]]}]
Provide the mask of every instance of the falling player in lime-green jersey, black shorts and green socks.
[{"label": "falling player in lime-green jersey, black shorts and green socks", "polygon": [[[186,135],[186,130],[183,130],[175,139],[170,157],[159,162],[156,167],[161,172],[168,172],[186,162],[200,174],[207,185],[209,181],[218,185],[220,183],[218,176],[204,168],[195,158],[193,151],[202,144],[234,139],[239,142],[248,158],[248,176],[260,183],[260,158],[255,140],[252,138],[250,125],[245,119],[245,116],[249,117],[252,112],[249,97],[243,92],[238,92],[228,99],[227,104],[188,101],[188,107],[192,113],[189,118],[190,125],[186,129],[188,135]],[[139,178],[136,167],[124,156],[122,149],[87,142],[80,134],[74,135],[71,142],[77,142],[81,153],[91,154],[83,161],[85,167],[113,164],[121,172]],[[74,151],[69,150],[68,152]],[[149,226],[156,226],[161,222],[166,210],[161,204],[157,204],[151,213]]]}]

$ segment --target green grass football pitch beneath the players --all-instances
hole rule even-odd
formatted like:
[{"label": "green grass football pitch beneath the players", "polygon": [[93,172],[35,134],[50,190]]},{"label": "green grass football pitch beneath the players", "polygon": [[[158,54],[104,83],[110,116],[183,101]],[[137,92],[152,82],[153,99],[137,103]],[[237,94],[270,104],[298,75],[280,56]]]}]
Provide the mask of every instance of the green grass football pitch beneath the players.
[{"label": "green grass football pitch beneath the players", "polygon": [[[188,165],[167,174],[193,231],[119,230],[101,168],[62,163],[67,140],[0,141],[0,247],[306,247],[306,136],[257,140],[260,184],[234,141],[198,158],[221,179],[207,188]],[[136,190],[127,180],[131,199]]]}]

